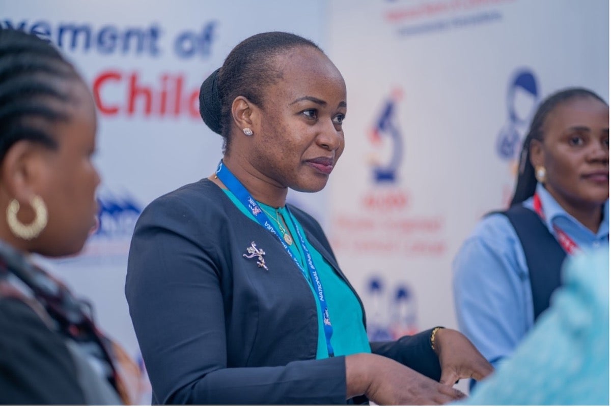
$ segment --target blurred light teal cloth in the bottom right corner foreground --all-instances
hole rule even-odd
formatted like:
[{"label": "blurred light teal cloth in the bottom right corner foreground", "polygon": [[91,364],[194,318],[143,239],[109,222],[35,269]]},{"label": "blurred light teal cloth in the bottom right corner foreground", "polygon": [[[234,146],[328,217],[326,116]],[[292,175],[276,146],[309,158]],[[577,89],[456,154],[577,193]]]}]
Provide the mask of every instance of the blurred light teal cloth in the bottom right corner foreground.
[{"label": "blurred light teal cloth in the bottom right corner foreground", "polygon": [[516,352],[455,405],[609,405],[609,249],[567,258]]}]

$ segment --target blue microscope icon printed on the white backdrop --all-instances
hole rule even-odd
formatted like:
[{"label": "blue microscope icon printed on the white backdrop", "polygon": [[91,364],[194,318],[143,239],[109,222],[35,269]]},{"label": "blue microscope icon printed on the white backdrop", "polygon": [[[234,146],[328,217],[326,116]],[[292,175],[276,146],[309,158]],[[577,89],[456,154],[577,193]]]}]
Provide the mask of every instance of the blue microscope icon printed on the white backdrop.
[{"label": "blue microscope icon printed on the white backdrop", "polygon": [[374,145],[381,144],[382,138],[392,143],[390,145],[390,158],[381,160],[378,155],[373,154],[371,165],[373,166],[373,177],[375,182],[394,182],[397,179],[397,169],[403,158],[403,138],[397,126],[397,104],[401,99],[401,90],[395,89],[391,96],[384,102],[378,119],[371,129],[370,140]]}]

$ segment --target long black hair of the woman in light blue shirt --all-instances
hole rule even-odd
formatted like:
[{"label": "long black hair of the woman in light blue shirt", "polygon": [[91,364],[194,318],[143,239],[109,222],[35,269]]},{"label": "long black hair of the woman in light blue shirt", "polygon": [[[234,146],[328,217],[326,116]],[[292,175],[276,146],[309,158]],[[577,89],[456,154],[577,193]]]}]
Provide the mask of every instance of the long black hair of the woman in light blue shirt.
[{"label": "long black hair of the woman in light blue shirt", "polygon": [[545,124],[547,116],[549,116],[549,113],[558,105],[578,97],[593,97],[609,107],[609,104],[607,104],[602,97],[585,88],[567,88],[560,90],[541,102],[530,123],[530,129],[527,136],[524,138],[524,144],[522,144],[522,150],[519,157],[518,180],[516,181],[516,189],[513,194],[513,199],[511,199],[511,205],[522,202],[535,194],[536,178],[535,168],[530,162],[530,144],[533,140],[543,141],[543,125]]}]

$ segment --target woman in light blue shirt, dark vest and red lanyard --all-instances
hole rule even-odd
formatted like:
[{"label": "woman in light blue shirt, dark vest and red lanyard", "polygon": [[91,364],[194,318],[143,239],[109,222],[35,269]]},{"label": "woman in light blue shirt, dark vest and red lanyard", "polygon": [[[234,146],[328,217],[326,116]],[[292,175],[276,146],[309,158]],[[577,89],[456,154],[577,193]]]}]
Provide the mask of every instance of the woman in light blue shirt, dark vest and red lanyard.
[{"label": "woman in light blue shirt, dark vest and red lanyard", "polygon": [[460,330],[493,365],[549,305],[566,255],[609,247],[609,105],[570,88],[538,108],[510,210],[486,216],[453,262]]}]

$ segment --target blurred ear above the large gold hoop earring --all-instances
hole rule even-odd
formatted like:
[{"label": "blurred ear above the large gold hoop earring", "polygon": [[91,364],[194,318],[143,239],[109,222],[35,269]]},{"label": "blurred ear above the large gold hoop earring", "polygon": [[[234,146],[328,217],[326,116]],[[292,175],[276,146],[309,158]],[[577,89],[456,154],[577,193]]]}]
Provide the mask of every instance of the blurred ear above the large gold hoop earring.
[{"label": "blurred ear above the large gold hoop earring", "polygon": [[36,194],[36,185],[43,182],[44,160],[38,143],[17,141],[10,146],[0,166],[0,181],[4,192],[20,202],[29,202]]}]

